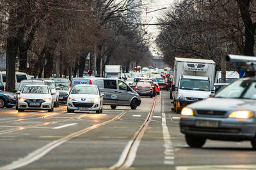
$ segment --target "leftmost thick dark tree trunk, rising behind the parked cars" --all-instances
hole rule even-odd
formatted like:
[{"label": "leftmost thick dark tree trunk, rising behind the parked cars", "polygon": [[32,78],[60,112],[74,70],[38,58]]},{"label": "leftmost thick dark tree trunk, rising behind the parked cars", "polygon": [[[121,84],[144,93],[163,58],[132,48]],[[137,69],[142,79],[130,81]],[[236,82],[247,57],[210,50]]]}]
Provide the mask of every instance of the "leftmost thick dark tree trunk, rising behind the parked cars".
[{"label": "leftmost thick dark tree trunk, rising behind the parked cars", "polygon": [[5,90],[12,92],[15,89],[15,60],[17,55],[18,40],[16,37],[9,37],[6,46],[6,85]]}]

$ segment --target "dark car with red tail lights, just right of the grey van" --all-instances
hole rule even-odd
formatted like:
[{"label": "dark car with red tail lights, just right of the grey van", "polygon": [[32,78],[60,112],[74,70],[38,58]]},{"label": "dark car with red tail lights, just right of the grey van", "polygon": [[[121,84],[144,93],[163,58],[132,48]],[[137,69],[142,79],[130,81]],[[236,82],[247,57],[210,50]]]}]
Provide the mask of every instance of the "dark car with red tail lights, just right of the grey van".
[{"label": "dark car with red tail lights, just right of the grey van", "polygon": [[151,98],[154,96],[154,91],[150,82],[138,82],[135,91],[140,96],[150,96]]}]

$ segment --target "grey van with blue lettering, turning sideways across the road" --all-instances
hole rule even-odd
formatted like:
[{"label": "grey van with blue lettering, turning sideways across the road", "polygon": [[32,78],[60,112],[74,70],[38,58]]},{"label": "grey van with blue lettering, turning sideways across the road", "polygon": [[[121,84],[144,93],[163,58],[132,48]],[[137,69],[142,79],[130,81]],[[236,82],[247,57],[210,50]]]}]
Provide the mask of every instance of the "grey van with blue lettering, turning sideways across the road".
[{"label": "grey van with blue lettering, turning sideways across the road", "polygon": [[125,81],[117,78],[73,78],[70,83],[70,90],[75,85],[92,84],[97,85],[100,92],[104,94],[103,104],[110,105],[112,109],[116,106],[131,106],[135,110],[140,106],[141,99]]}]

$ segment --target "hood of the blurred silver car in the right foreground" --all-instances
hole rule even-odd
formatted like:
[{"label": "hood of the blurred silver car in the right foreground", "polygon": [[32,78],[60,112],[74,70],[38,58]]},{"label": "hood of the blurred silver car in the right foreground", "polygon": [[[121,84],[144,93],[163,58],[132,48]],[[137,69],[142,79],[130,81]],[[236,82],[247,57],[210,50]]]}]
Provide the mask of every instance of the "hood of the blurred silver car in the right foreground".
[{"label": "hood of the blurred silver car in the right foreground", "polygon": [[189,104],[188,107],[195,110],[256,110],[256,101],[250,99],[221,99],[221,98],[208,98],[204,101],[199,101]]}]

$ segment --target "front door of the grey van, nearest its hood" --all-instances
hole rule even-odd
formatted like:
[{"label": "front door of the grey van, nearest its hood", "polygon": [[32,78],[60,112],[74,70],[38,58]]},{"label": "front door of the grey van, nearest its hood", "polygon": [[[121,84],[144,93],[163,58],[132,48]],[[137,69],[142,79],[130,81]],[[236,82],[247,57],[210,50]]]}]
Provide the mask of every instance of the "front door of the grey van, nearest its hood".
[{"label": "front door of the grey van, nearest its hood", "polygon": [[132,90],[124,81],[118,80],[118,105],[129,105],[131,92]]}]

